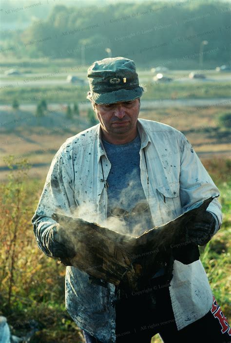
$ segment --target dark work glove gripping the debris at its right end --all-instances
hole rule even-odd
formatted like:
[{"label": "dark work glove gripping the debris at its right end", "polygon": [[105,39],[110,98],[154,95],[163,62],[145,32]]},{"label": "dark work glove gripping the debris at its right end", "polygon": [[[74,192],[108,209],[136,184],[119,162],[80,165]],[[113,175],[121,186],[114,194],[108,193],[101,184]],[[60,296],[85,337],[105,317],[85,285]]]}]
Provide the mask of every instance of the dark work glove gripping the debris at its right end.
[{"label": "dark work glove gripping the debris at its right end", "polygon": [[188,222],[186,225],[187,240],[196,245],[203,246],[211,240],[215,228],[216,220],[212,213],[209,211],[199,213],[193,222]]}]

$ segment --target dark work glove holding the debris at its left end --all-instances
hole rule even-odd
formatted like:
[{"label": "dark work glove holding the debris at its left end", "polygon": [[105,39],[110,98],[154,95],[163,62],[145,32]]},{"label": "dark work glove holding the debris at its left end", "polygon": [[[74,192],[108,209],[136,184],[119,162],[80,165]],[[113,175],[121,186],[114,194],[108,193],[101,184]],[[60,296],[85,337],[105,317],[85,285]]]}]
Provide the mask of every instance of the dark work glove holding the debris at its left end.
[{"label": "dark work glove holding the debris at its left end", "polygon": [[70,242],[67,244],[65,238],[60,235],[60,229],[62,229],[60,224],[53,228],[52,256],[58,257],[64,266],[71,266],[70,259],[76,255],[76,252],[74,247],[70,246]]}]

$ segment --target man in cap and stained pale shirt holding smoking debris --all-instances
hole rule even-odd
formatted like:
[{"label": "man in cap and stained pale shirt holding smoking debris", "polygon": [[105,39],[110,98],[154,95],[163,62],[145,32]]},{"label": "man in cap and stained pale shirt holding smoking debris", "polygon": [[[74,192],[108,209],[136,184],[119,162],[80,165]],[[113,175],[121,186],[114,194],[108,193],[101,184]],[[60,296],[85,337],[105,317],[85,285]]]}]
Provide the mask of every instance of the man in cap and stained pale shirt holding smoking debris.
[{"label": "man in cap and stained pale shirt holding smoking debris", "polygon": [[[156,333],[164,342],[194,342],[199,331],[203,342],[225,342],[229,326],[222,312],[223,324],[215,317],[220,307],[200,260],[185,263],[187,249],[175,249],[171,280],[169,266],[160,263],[149,288],[121,289],[117,297],[114,285],[70,266],[73,252],[60,239],[54,212],[137,236],[219,193],[182,133],[138,119],[143,88],[132,60],[96,61],[88,78],[87,98],[100,123],[61,146],[32,220],[39,248],[68,266],[68,312],[84,330],[86,342],[146,343]],[[221,223],[221,206],[214,199],[205,216],[186,228],[193,247],[206,244]]]}]

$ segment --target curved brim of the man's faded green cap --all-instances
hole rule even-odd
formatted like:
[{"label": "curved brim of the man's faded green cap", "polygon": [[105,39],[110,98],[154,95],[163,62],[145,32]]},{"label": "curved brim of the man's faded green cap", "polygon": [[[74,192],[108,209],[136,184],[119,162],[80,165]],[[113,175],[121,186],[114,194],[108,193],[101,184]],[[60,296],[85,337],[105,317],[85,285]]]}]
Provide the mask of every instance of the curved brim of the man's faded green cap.
[{"label": "curved brim of the man's faded green cap", "polygon": [[114,104],[118,101],[135,100],[143,94],[143,88],[138,86],[133,89],[119,89],[113,92],[95,93],[91,92],[90,97],[96,104]]}]

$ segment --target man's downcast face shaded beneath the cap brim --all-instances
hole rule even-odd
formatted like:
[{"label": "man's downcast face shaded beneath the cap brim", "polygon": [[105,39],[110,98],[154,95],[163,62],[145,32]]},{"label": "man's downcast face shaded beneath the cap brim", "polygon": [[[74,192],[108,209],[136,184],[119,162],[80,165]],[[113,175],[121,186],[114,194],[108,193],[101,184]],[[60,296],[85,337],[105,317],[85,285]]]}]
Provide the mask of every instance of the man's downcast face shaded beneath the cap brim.
[{"label": "man's downcast face shaded beneath the cap brim", "polygon": [[139,98],[109,105],[95,104],[95,112],[104,135],[121,137],[125,133],[135,132],[139,107]]}]

